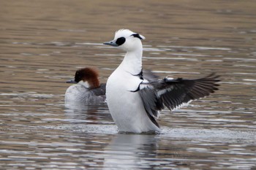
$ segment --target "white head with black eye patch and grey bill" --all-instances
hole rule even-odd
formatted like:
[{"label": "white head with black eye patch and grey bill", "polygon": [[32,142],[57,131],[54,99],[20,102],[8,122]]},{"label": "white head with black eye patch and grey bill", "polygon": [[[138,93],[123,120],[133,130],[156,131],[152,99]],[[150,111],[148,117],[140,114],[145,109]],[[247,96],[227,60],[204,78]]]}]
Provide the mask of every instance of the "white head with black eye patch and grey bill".
[{"label": "white head with black eye patch and grey bill", "polygon": [[119,47],[125,51],[142,49],[141,39],[145,39],[143,35],[132,32],[129,29],[120,29],[116,31],[115,38],[110,42],[104,42],[104,45]]}]

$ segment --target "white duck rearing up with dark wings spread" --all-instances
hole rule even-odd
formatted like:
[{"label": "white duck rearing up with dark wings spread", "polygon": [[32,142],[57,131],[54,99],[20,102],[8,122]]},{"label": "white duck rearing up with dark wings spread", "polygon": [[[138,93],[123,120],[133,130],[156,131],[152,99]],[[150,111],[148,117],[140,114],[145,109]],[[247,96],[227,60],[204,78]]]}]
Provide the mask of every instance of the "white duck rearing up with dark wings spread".
[{"label": "white duck rearing up with dark wings spread", "polygon": [[105,42],[127,53],[106,85],[106,100],[119,131],[159,132],[156,118],[164,106],[177,109],[189,101],[214,93],[218,76],[210,74],[197,80],[178,78],[148,80],[143,77],[141,40],[144,36],[128,29],[116,31],[113,41]]}]

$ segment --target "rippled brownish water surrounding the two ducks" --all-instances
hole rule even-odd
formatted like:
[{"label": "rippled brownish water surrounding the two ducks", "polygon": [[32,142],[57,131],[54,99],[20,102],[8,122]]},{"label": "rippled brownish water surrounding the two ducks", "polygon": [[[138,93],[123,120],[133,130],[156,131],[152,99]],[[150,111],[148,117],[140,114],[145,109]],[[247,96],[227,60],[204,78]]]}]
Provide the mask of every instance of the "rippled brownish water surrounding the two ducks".
[{"label": "rippled brownish water surrounding the two ducks", "polygon": [[[1,1],[1,169],[256,169],[256,3]],[[106,82],[130,28],[143,68],[159,76],[222,75],[217,93],[159,119],[162,133],[118,134],[106,105],[64,107],[75,70]]]}]

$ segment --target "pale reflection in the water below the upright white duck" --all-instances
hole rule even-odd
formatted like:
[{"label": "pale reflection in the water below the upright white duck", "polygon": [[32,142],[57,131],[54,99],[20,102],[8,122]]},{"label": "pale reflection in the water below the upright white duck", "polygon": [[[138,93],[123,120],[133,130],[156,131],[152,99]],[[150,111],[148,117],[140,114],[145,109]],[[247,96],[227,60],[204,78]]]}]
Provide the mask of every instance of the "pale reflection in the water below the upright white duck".
[{"label": "pale reflection in the water below the upright white duck", "polygon": [[152,169],[145,158],[157,157],[154,135],[116,134],[104,149],[104,169]]}]

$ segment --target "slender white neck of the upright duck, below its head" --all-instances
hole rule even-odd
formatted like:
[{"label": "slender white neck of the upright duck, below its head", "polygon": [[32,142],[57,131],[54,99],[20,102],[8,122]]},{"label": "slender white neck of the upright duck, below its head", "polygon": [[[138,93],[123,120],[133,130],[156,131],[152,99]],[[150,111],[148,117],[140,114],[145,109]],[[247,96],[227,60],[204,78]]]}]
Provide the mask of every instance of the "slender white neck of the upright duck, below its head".
[{"label": "slender white neck of the upright duck, below its head", "polygon": [[128,51],[124,56],[124,60],[121,62],[120,66],[122,67],[122,69],[129,72],[130,74],[140,74],[142,69],[142,54],[142,48],[138,50]]}]

